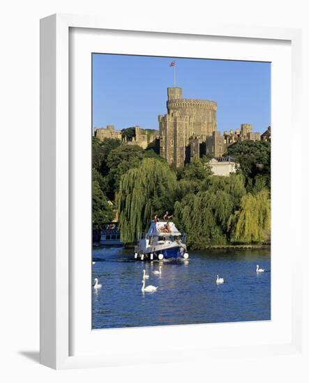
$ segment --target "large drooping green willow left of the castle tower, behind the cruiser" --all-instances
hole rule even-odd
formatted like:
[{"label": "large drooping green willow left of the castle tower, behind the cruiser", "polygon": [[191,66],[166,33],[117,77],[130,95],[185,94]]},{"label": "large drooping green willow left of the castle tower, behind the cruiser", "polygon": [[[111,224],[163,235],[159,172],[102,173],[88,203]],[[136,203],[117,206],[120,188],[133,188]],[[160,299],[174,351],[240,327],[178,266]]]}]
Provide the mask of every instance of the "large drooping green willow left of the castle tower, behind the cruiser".
[{"label": "large drooping green willow left of the castle tower, behind the cruiser", "polygon": [[176,174],[155,158],[143,159],[140,166],[122,175],[116,196],[121,240],[134,242],[156,212],[171,211],[175,189]]}]

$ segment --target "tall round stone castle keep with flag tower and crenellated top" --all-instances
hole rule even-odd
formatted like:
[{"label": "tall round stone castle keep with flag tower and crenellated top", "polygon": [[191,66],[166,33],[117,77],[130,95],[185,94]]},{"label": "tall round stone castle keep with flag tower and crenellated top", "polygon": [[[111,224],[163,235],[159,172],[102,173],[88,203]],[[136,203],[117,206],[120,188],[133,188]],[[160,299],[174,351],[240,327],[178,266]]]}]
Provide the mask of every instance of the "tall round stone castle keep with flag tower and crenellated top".
[{"label": "tall round stone castle keep with flag tower and crenellated top", "polygon": [[183,166],[201,156],[201,144],[217,129],[217,103],[184,99],[181,88],[167,88],[167,114],[158,116],[160,155]]}]

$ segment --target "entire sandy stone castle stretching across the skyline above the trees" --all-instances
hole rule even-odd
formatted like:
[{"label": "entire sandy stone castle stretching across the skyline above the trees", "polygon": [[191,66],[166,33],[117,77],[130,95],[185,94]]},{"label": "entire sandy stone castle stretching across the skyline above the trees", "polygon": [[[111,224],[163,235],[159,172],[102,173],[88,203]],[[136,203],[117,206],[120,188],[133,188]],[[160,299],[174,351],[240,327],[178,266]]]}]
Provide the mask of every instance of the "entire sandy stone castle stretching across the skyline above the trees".
[{"label": "entire sandy stone castle stretching across the skyline above the trees", "polygon": [[182,98],[182,89],[167,88],[167,114],[158,116],[159,131],[135,127],[135,136],[130,140],[113,125],[95,129],[98,139],[121,139],[123,144],[134,144],[147,148],[149,143],[157,143],[160,155],[169,164],[183,166],[194,158],[209,155],[222,157],[227,147],[237,141],[270,141],[271,127],[260,134],[253,132],[251,124],[242,124],[240,129],[217,130],[217,103],[209,100]]}]

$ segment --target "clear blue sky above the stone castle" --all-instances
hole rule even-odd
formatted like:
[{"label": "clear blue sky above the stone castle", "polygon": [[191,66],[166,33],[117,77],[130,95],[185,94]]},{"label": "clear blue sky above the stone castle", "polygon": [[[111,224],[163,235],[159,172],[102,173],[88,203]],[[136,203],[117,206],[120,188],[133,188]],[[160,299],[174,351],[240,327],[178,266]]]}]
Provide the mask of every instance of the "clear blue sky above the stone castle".
[{"label": "clear blue sky above the stone castle", "polygon": [[271,125],[270,63],[93,54],[93,127],[158,129],[174,82],[171,61],[183,98],[218,102],[220,132],[241,123],[253,124],[255,132]]}]

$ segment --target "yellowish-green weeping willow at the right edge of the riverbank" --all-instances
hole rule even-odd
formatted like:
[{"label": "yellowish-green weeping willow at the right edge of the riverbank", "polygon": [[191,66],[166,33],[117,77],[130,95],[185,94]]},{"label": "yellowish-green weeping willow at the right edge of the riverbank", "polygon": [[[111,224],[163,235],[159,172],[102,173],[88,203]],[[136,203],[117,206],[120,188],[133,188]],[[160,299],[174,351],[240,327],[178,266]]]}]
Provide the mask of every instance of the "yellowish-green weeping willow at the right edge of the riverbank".
[{"label": "yellowish-green weeping willow at the right edge of the riverbank", "polygon": [[234,242],[263,242],[271,232],[271,200],[269,190],[241,198],[240,209],[227,224]]}]

